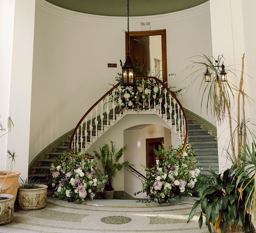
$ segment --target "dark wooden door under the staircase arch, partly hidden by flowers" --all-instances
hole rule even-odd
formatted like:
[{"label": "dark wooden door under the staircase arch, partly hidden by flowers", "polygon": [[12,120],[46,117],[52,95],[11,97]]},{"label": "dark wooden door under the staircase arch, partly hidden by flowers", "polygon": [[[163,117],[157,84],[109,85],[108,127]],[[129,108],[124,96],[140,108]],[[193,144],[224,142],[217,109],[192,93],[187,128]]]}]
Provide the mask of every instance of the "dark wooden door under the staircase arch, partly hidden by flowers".
[{"label": "dark wooden door under the staircase arch, partly hidden by flowers", "polygon": [[146,163],[148,168],[156,165],[154,149],[158,149],[158,146],[162,145],[162,142],[164,142],[163,137],[146,139]]}]

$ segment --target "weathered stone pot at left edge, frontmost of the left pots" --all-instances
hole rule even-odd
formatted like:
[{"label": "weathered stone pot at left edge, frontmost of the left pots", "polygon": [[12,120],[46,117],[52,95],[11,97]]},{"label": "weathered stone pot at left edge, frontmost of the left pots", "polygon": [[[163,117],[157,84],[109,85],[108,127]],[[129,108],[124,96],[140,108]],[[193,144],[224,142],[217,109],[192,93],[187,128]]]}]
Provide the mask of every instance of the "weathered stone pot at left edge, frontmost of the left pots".
[{"label": "weathered stone pot at left edge, frontmost of the left pots", "polygon": [[[9,223],[13,219],[13,211],[14,211],[14,195],[11,194],[1,194],[1,197],[7,197],[8,199],[0,200],[2,205],[2,213],[0,216],[0,225]],[[0,206],[1,212],[1,206]]]}]

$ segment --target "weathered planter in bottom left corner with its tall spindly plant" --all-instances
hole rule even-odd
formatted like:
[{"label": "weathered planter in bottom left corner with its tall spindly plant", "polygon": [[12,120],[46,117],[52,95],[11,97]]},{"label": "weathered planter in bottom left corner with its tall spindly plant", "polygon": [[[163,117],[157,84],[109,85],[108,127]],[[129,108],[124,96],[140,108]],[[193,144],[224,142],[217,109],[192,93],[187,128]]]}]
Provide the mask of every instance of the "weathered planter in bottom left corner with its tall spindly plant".
[{"label": "weathered planter in bottom left corner with its tall spindly plant", "polygon": [[[3,186],[4,182],[12,170],[13,163],[15,163],[15,157],[17,155],[15,155],[14,151],[11,152],[10,150],[7,150],[7,156],[12,160],[11,160],[11,169],[9,171],[6,171],[7,173],[5,174],[3,181],[0,183],[0,208],[1,208],[0,209],[0,225],[11,222],[13,219],[13,211],[14,211],[15,196],[12,194],[1,194],[2,187],[4,187]],[[11,183],[9,185],[13,185],[13,184]]]}]

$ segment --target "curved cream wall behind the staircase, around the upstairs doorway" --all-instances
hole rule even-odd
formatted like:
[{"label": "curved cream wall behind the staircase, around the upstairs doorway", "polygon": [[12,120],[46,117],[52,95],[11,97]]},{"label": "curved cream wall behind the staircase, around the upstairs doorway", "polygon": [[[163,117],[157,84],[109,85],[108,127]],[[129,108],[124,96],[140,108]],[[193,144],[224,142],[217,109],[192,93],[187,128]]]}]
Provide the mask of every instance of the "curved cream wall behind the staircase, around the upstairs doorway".
[{"label": "curved cream wall behind the staircase, around the upstairs doorway", "polygon": [[[63,11],[37,0],[29,161],[56,138],[74,128],[81,116],[107,91],[125,58],[126,17],[93,16]],[[141,22],[151,30],[166,29],[169,85],[184,87],[189,57],[211,55],[209,3],[182,12],[130,17],[130,31]],[[207,35],[207,36],[202,36]],[[107,68],[117,63],[117,68]],[[197,89],[196,89],[197,90]],[[180,98],[185,108],[200,115],[197,91]],[[204,110],[204,109],[203,109]],[[211,116],[201,114],[214,123]]]}]

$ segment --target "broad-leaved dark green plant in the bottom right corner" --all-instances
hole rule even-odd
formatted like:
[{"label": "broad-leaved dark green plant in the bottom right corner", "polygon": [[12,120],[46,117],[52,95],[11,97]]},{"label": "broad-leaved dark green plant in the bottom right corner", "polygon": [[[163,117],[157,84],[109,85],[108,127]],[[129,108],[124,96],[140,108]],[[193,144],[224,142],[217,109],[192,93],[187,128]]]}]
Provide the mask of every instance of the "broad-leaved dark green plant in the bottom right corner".
[{"label": "broad-leaved dark green plant in the bottom right corner", "polygon": [[[252,190],[253,182],[249,177],[244,177],[243,170],[237,164],[233,164],[231,168],[225,170],[222,177],[221,174],[216,174],[211,168],[209,169],[213,180],[205,181],[199,192],[201,210],[206,216],[205,224],[208,226],[209,232],[211,232],[210,223],[214,225],[215,230],[223,233],[225,224],[231,228],[236,219],[238,219],[239,227],[244,227],[245,232],[249,232],[250,219],[244,205]],[[240,189],[237,187],[244,187],[245,181],[248,182],[248,188],[244,188],[240,194]],[[198,202],[194,204],[187,222],[193,218],[198,205]],[[199,227],[201,228],[200,218]]]}]

